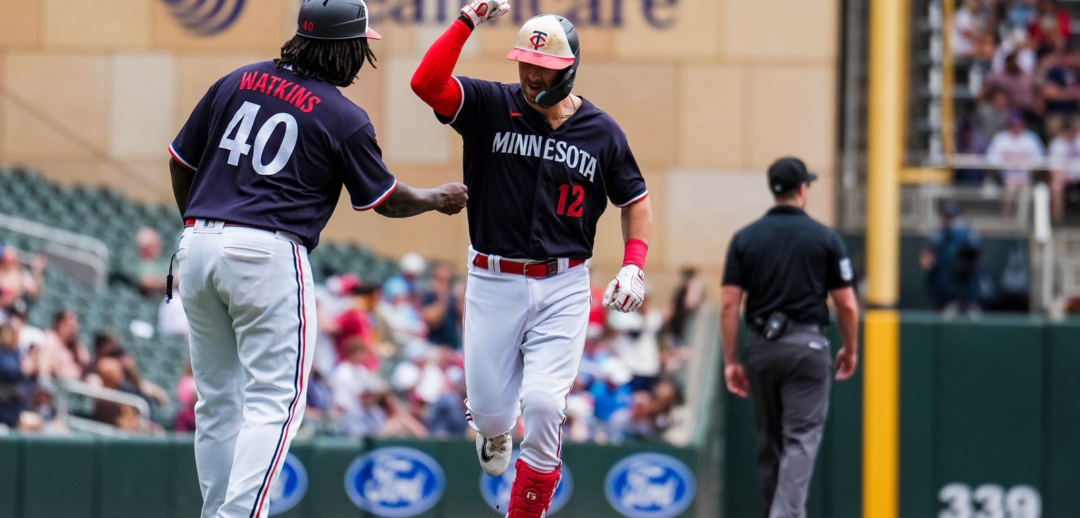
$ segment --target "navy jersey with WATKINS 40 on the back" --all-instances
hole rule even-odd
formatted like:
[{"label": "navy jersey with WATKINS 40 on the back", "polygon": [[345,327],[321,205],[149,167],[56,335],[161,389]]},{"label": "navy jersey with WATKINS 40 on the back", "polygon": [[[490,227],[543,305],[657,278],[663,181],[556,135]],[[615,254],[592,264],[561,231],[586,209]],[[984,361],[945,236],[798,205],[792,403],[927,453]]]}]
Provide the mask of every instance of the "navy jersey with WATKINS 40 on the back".
[{"label": "navy jersey with WATKINS 40 on the back", "polygon": [[319,244],[342,185],[356,210],[397,187],[367,112],[336,86],[273,62],[215,83],[170,153],[195,172],[185,218],[292,232],[308,249]]}]

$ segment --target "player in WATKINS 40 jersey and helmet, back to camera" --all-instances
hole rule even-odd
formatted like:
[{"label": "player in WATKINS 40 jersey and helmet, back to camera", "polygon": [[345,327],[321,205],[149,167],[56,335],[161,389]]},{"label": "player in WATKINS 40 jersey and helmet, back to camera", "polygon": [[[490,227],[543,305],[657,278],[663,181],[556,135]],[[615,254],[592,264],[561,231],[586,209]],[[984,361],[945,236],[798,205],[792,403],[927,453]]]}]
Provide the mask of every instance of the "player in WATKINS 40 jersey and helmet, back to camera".
[{"label": "player in WATKINS 40 jersey and helmet, back to camera", "polygon": [[397,181],[367,113],[341,95],[374,66],[363,0],[309,0],[281,58],[211,86],[168,148],[186,219],[177,259],[191,325],[202,518],[264,518],[303,415],[314,357],[308,251],[341,188],[388,217],[464,208],[463,185]]}]

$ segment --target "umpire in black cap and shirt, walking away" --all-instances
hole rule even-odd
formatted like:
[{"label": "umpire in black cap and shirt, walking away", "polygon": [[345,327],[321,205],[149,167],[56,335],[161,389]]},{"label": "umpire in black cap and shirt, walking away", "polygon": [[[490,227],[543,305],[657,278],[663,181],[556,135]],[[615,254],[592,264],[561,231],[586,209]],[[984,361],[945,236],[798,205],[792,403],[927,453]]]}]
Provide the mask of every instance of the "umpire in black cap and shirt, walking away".
[{"label": "umpire in black cap and shirt, walking away", "polygon": [[[851,261],[840,235],[804,210],[815,179],[798,159],[780,159],[769,167],[775,206],[731,240],[724,272],[724,374],[731,393],[754,399],[758,468],[769,518],[806,516],[832,384],[824,335],[828,296],[843,339],[836,379],[851,378],[859,363],[859,303]],[[738,353],[744,295],[751,335],[745,367]]]}]

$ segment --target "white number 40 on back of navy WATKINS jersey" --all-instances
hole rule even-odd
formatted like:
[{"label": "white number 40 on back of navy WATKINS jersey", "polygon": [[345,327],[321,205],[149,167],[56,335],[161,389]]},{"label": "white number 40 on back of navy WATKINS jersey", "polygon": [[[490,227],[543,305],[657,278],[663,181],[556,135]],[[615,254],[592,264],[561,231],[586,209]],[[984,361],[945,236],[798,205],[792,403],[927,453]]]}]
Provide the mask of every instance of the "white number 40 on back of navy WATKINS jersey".
[{"label": "white number 40 on back of navy WATKINS jersey", "polygon": [[[247,139],[252,136],[255,115],[259,113],[259,109],[261,108],[261,106],[255,103],[244,103],[244,106],[241,106],[237,110],[237,114],[232,115],[229,127],[225,130],[225,135],[221,136],[221,144],[218,145],[219,148],[229,150],[229,165],[240,165],[240,156],[246,156],[252,152],[252,145],[247,144]],[[278,153],[274,154],[273,160],[269,164],[265,164],[262,163],[262,151],[280,124],[285,124],[285,136],[282,137],[281,147],[278,148]],[[240,127],[238,128],[237,126]],[[237,138],[229,137],[233,131],[237,132]],[[259,133],[255,135],[255,156],[252,156],[252,167],[255,168],[255,173],[261,176],[271,176],[276,175],[281,169],[285,168],[288,159],[293,158],[293,150],[296,149],[296,118],[288,113],[278,113],[262,123]]]}]

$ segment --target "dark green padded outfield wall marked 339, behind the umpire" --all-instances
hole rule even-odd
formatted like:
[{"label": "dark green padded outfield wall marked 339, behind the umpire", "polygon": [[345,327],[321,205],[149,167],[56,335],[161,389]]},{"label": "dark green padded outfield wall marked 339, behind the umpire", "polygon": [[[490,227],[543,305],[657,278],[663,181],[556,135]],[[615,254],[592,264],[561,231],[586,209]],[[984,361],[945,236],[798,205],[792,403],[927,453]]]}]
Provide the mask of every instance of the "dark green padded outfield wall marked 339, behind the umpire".
[{"label": "dark green padded outfield wall marked 339, behind the umpire", "polygon": [[[1080,323],[908,313],[900,335],[899,516],[1080,517]],[[861,516],[861,392],[834,385],[812,517]],[[724,405],[724,516],[760,518],[753,409]]]}]

